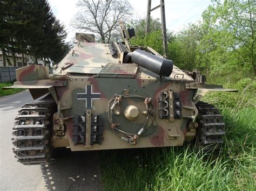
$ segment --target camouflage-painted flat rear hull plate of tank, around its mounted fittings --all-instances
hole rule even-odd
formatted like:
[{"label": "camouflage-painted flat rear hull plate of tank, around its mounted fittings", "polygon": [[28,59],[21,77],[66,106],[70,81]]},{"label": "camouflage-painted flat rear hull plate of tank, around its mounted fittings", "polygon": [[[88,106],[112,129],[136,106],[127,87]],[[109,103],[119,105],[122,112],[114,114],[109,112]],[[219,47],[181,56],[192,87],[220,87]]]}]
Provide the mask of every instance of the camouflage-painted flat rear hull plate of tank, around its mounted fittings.
[{"label": "camouflage-painted flat rear hull plate of tank, around its mounted fittings", "polygon": [[[87,100],[78,98],[78,95],[83,94],[85,97],[90,92],[86,92],[86,87],[90,86],[92,93],[100,94],[100,98],[92,98],[90,105]],[[180,119],[160,119],[158,111],[158,99],[161,92],[173,91],[178,93],[183,103],[183,108],[190,107],[191,116],[185,114]],[[107,104],[111,100],[114,94],[124,92],[124,94],[134,95],[146,95],[146,97],[152,98],[152,103],[156,105],[156,130],[148,136],[140,137],[136,145],[131,145],[119,137],[114,135],[111,126],[107,123],[106,108]],[[105,77],[71,77],[67,86],[56,88],[58,97],[58,108],[60,115],[64,121],[66,127],[66,135],[62,139],[68,139],[63,145],[62,139],[53,140],[54,147],[69,146],[72,151],[83,151],[83,150],[105,150],[115,148],[139,148],[139,147],[161,147],[161,146],[181,146],[184,143],[187,131],[187,123],[192,115],[197,113],[197,108],[192,102],[194,90],[188,90],[185,88],[183,81],[162,81],[159,83],[158,79],[112,79]],[[86,93],[86,94],[85,94]],[[71,102],[72,100],[72,102]],[[116,110],[120,112],[119,116],[116,116],[116,121],[122,124],[122,129],[130,132],[137,132],[138,128],[144,121],[143,116],[138,118],[136,121],[129,121],[124,117],[124,110],[127,105],[136,105],[139,112],[145,110],[144,100],[136,100],[128,98],[127,100],[119,105]],[[86,107],[87,106],[87,107]],[[87,110],[93,110],[93,114],[99,115],[103,119],[103,135],[104,138],[101,144],[93,144],[92,146],[85,146],[84,144],[75,145],[72,141],[73,138],[73,118],[78,115],[86,114]],[[190,117],[190,118],[188,118]],[[135,126],[135,127],[134,127]],[[137,128],[137,129],[134,129]],[[170,136],[172,135],[172,136]],[[191,135],[189,135],[191,136]],[[194,135],[195,136],[195,133]],[[68,144],[69,143],[69,144]]]}]

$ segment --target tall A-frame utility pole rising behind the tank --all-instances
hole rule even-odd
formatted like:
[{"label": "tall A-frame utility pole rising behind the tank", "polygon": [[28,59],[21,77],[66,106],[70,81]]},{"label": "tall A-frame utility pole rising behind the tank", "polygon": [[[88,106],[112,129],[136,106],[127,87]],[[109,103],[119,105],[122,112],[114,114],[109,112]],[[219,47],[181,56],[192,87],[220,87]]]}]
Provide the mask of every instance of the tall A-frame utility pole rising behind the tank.
[{"label": "tall A-frame utility pole rising behind the tank", "polygon": [[166,22],[165,22],[165,5],[164,0],[160,0],[160,5],[151,9],[151,0],[147,0],[147,18],[146,18],[146,35],[149,34],[150,31],[150,12],[156,9],[161,9],[161,29],[163,34],[163,47],[164,54],[167,55],[167,34],[166,34]]}]

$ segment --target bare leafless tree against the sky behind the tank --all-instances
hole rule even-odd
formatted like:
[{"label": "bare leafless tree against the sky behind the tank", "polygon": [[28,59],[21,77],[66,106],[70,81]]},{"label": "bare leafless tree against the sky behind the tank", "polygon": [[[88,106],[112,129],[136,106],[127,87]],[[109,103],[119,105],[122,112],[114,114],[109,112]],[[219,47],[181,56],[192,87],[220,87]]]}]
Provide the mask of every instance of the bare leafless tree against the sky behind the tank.
[{"label": "bare leafless tree against the sky behind the tank", "polygon": [[71,25],[80,31],[95,33],[102,43],[110,42],[118,20],[126,20],[132,11],[125,0],[79,0],[77,6],[80,10]]}]

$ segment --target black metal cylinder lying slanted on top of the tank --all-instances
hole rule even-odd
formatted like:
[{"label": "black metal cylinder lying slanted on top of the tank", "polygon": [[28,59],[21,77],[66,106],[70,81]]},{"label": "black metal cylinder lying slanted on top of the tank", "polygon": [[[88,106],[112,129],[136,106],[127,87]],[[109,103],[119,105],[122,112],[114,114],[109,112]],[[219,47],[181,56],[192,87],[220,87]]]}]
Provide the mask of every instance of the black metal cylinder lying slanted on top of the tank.
[{"label": "black metal cylinder lying slanted on top of the tank", "polygon": [[159,76],[170,76],[172,73],[172,60],[160,58],[159,56],[142,51],[141,49],[136,49],[130,52],[129,55],[134,63]]}]

